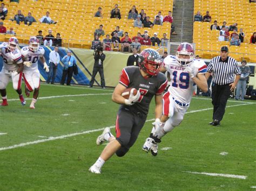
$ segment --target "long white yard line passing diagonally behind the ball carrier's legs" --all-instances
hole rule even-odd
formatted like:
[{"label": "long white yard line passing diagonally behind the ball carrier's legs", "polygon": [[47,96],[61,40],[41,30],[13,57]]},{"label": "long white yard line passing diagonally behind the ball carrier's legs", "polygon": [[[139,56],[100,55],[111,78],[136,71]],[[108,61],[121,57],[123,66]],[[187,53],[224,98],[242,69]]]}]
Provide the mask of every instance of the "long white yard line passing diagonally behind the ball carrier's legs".
[{"label": "long white yard line passing diagonally behind the ball carrier's legs", "polygon": [[[253,103],[250,103],[253,104]],[[226,108],[230,108],[230,107],[236,107],[236,106],[240,106],[240,105],[250,105],[250,104],[238,104],[238,105],[230,105],[227,106]],[[186,112],[186,114],[191,114],[194,112],[199,112],[199,111],[206,111],[206,110],[212,110],[213,108],[206,108],[206,109],[200,109],[200,110],[194,110],[194,111],[188,111]],[[148,119],[146,120],[146,122],[152,122],[155,119]],[[110,126],[109,128],[114,128],[115,126]],[[12,145],[12,146],[7,146],[7,147],[1,147],[0,151],[4,151],[4,150],[9,150],[9,149],[13,149],[13,148],[17,148],[17,147],[23,147],[26,145],[33,145],[33,144],[38,144],[38,143],[44,143],[44,142],[49,142],[50,140],[56,140],[56,139],[64,139],[66,137],[73,137],[73,136],[77,136],[77,135],[83,135],[83,134],[87,134],[87,133],[91,133],[91,132],[97,132],[97,131],[102,131],[105,128],[100,128],[100,129],[95,129],[95,130],[89,130],[89,131],[83,131],[83,132],[77,132],[77,133],[71,133],[69,135],[63,135],[63,136],[58,136],[58,137],[52,137],[52,138],[48,138],[48,139],[42,139],[42,140],[35,140],[33,142],[26,142],[26,143],[21,143],[18,145]]]}]

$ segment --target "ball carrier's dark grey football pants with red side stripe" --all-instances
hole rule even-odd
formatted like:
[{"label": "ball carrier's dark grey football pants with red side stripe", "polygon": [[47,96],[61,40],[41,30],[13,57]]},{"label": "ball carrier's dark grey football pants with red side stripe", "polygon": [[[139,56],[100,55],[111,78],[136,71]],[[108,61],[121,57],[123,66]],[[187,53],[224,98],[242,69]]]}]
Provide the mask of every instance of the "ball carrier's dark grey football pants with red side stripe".
[{"label": "ball carrier's dark grey football pants with red side stripe", "polygon": [[116,152],[119,157],[127,153],[136,142],[145,121],[146,115],[140,112],[132,112],[127,108],[119,109],[116,121],[116,139],[122,146]]}]

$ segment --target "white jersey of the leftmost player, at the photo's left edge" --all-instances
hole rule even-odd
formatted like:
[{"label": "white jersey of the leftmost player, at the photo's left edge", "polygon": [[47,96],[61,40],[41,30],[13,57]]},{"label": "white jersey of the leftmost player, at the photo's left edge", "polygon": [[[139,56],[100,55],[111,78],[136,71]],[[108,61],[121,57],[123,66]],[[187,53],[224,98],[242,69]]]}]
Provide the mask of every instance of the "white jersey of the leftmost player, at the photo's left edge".
[{"label": "white jersey of the leftmost player, at the photo's left edge", "polygon": [[9,51],[7,48],[8,43],[2,43],[0,45],[1,55],[3,57],[3,68],[7,71],[15,71],[18,69],[18,64],[22,63],[21,51],[18,48],[15,51]]}]

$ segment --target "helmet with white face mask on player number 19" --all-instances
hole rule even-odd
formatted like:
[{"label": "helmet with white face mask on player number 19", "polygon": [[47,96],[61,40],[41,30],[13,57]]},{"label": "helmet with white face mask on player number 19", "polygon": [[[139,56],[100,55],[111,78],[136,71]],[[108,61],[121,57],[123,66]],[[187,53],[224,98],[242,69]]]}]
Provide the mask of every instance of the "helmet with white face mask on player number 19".
[{"label": "helmet with white face mask on player number 19", "polygon": [[[182,58],[181,55],[189,55],[190,58]],[[176,59],[180,63],[181,66],[186,66],[190,64],[194,59],[194,49],[193,46],[189,43],[181,43],[176,52]]]}]

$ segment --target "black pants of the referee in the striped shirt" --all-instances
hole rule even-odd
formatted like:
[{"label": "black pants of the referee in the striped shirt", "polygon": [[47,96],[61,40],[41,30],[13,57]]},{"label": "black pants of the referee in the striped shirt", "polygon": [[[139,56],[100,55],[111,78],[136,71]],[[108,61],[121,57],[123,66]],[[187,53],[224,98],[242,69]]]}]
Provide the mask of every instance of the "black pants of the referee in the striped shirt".
[{"label": "black pants of the referee in the striped shirt", "polygon": [[231,95],[230,85],[212,84],[212,104],[213,116],[212,119],[217,119],[219,122],[223,119],[227,100]]}]

